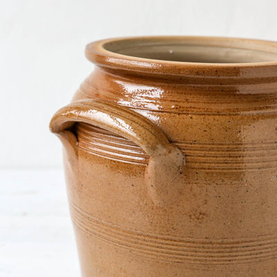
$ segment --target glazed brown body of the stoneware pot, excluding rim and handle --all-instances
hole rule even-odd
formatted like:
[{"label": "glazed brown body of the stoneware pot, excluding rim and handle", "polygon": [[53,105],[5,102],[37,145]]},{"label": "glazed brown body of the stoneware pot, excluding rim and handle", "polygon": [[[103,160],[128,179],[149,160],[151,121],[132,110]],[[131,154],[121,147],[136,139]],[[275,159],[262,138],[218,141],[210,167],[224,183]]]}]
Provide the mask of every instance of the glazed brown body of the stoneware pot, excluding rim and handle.
[{"label": "glazed brown body of the stoneware pot, excluding rim and handle", "polygon": [[275,79],[249,82],[96,66],[73,102],[100,99],[141,114],[186,163],[166,185],[173,199],[157,204],[145,186],[145,150],[99,125],[74,125],[64,168],[83,277],[276,276]]}]

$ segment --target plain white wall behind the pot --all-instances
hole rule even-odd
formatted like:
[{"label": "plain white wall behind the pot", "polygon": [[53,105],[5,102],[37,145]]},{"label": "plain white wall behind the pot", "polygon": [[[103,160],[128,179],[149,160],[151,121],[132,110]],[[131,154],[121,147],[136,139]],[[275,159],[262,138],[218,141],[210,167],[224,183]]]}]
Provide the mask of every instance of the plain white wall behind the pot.
[{"label": "plain white wall behind the pot", "polygon": [[48,131],[93,69],[84,46],[129,35],[277,40],[277,1],[0,0],[0,168],[60,168]]}]

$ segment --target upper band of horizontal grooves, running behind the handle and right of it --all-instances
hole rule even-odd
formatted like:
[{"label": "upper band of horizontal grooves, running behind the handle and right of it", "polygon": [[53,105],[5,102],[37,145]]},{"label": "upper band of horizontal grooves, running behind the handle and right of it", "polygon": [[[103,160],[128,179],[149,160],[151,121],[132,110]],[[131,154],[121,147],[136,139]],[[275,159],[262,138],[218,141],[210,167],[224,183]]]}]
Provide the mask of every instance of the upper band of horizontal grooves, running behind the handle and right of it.
[{"label": "upper band of horizontal grooves, running behind the handle and right of it", "polygon": [[[107,130],[78,124],[79,148],[107,159],[127,163],[148,163],[148,155],[135,143]],[[186,166],[204,170],[262,170],[277,166],[277,141],[267,143],[185,143],[172,144],[184,152]]]}]

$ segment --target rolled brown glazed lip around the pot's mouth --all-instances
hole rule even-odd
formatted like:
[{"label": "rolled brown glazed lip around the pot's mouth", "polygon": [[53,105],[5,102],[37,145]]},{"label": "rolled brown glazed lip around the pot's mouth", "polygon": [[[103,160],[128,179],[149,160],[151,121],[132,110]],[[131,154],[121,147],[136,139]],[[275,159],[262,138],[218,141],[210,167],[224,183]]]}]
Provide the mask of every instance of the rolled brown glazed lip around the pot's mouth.
[{"label": "rolled brown glazed lip around the pot's mouth", "polygon": [[[127,42],[128,40],[153,40],[161,39],[161,42],[172,41],[172,39],[187,39],[189,40],[209,40],[214,42],[233,42],[233,43],[248,43],[251,45],[264,46],[265,52],[267,47],[276,48],[277,42],[263,39],[244,39],[237,37],[204,37],[204,36],[146,36],[146,37],[119,37],[111,39],[102,39],[96,42],[87,44],[85,55],[88,60],[94,64],[111,69],[120,69],[123,71],[136,71],[137,73],[151,73],[163,75],[188,75],[188,76],[206,76],[215,77],[218,73],[223,73],[222,77],[277,77],[277,60],[272,62],[243,62],[243,63],[206,63],[206,62],[177,62],[168,60],[154,60],[144,57],[135,57],[123,55],[109,51],[105,45],[111,42]],[[199,44],[202,45],[202,44]],[[220,46],[220,44],[218,44]],[[224,45],[221,45],[224,47]],[[232,47],[232,46],[231,46]],[[233,47],[242,48],[242,47]],[[247,48],[244,48],[247,49]],[[251,49],[251,48],[249,48]],[[269,69],[269,70],[267,70]],[[265,71],[265,72],[263,72]],[[257,75],[258,73],[258,75]]]}]

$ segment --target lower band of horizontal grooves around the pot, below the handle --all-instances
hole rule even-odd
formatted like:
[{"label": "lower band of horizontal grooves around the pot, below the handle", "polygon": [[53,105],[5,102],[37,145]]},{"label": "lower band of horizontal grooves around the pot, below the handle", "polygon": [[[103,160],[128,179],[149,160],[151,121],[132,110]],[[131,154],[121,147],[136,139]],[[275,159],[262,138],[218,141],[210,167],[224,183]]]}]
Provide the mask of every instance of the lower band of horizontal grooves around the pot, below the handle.
[{"label": "lower band of horizontal grooves around the pot, below the handle", "polygon": [[72,203],[71,216],[74,224],[85,233],[155,260],[230,264],[277,258],[276,235],[263,235],[243,240],[207,240],[142,234],[102,222]]}]

